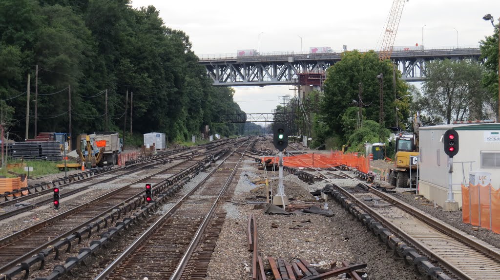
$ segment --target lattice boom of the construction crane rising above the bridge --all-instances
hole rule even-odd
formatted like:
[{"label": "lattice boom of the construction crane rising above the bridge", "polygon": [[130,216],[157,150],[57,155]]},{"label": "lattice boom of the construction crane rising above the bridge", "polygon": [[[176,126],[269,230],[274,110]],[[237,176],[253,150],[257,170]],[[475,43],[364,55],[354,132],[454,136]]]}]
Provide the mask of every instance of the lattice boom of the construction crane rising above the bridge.
[{"label": "lattice boom of the construction crane rising above the bridge", "polygon": [[393,0],[392,7],[390,8],[389,18],[385,25],[385,32],[383,34],[382,46],[378,52],[378,59],[389,59],[396,39],[397,27],[399,27],[399,20],[403,12],[404,2],[408,0]]}]

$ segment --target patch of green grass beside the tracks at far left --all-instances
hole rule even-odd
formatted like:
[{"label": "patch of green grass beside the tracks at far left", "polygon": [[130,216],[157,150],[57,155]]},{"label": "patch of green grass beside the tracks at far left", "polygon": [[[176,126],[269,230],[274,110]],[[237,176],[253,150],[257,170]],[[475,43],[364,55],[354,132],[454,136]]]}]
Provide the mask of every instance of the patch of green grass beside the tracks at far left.
[{"label": "patch of green grass beside the tracks at far left", "polygon": [[[67,160],[66,163],[74,163],[76,161]],[[22,163],[22,166],[21,166]],[[25,166],[33,167],[33,171],[29,172],[29,176],[31,178],[36,178],[40,176],[45,176],[49,174],[59,173],[59,169],[57,169],[56,165],[59,163],[64,163],[64,161],[45,161],[45,160],[8,160],[7,164],[16,164],[18,166],[9,167],[8,171],[12,171],[18,174],[27,174],[24,171]],[[0,175],[5,176],[7,178],[17,177],[14,174],[10,174],[7,172],[7,168],[0,169]]]}]

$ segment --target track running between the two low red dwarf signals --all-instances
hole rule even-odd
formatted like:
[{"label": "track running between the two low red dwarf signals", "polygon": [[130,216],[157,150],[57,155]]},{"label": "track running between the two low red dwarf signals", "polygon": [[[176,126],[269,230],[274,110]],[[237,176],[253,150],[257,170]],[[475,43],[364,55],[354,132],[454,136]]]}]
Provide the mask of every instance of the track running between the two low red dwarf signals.
[{"label": "track running between the two low red dwarf signals", "polygon": [[[216,150],[212,151],[212,153],[216,152]],[[23,231],[17,232],[0,240],[0,274],[5,274],[10,277],[11,275],[19,274],[20,272],[25,271],[25,268],[23,268],[23,266],[32,266],[33,264],[40,261],[41,267],[43,267],[43,260],[50,254],[55,254],[57,259],[57,255],[59,254],[58,250],[61,247],[67,246],[67,251],[69,251],[71,247],[71,241],[74,240],[74,238],[78,238],[77,240],[79,243],[82,234],[80,233],[79,235],[74,236],[75,232],[78,232],[85,226],[87,228],[90,227],[87,231],[88,237],[90,237],[92,230],[94,230],[95,232],[99,232],[99,228],[101,226],[103,228],[106,227],[108,223],[107,220],[109,218],[110,223],[113,223],[114,219],[117,220],[120,217],[120,212],[116,211],[117,209],[124,210],[123,215],[126,214],[127,210],[132,210],[132,207],[128,209],[127,207],[124,207],[126,203],[130,204],[130,201],[133,200],[132,202],[134,202],[134,208],[140,206],[141,203],[144,203],[144,201],[142,200],[137,201],[137,197],[139,197],[144,192],[144,188],[131,187],[133,184],[153,180],[153,177],[155,175],[166,172],[173,172],[173,174],[168,178],[159,179],[160,182],[156,184],[163,186],[171,185],[179,178],[190,176],[189,174],[199,169],[198,167],[203,167],[199,162],[194,164],[192,163],[192,160],[195,159],[195,157],[198,157],[198,159],[201,158],[201,161],[213,159],[211,156],[194,155],[191,158],[184,160],[183,162],[175,164],[174,166],[138,179],[81,206],[61,213],[49,220],[40,222],[30,228],[26,228]],[[135,203],[135,201],[137,201],[137,203]],[[115,211],[117,212],[117,214]],[[106,219],[104,219],[103,217],[106,217]],[[67,236],[70,235],[72,236],[72,240],[69,240],[67,242],[60,242],[61,240],[68,239]],[[45,242],[47,238],[49,239],[49,241]],[[38,254],[38,256],[29,258],[32,254],[38,251],[41,252]],[[20,254],[23,255],[19,256]],[[40,254],[42,254],[43,256],[39,256]],[[14,267],[22,260],[27,261],[21,263],[21,267]]]}]

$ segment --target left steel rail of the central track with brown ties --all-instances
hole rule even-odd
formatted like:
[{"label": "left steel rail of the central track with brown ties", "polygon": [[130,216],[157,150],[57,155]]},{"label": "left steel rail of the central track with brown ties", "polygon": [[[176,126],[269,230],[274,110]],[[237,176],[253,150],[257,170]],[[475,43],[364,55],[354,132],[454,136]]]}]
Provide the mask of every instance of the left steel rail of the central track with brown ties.
[{"label": "left steel rail of the central track with brown ties", "polygon": [[[240,144],[238,147],[242,146]],[[111,264],[109,264],[103,271],[97,275],[94,280],[104,280],[109,274],[111,274],[121,262],[127,258],[138,246],[140,246],[152,233],[153,231],[161,225],[161,223],[169,217],[192,193],[194,193],[199,186],[201,186],[215,171],[222,166],[222,164],[234,153],[232,151],[228,156],[226,156],[216,167],[214,167],[199,183],[197,183],[187,194],[179,199],[165,214],[163,214],[156,222],[154,222],[147,230],[144,231],[130,246],[128,246],[125,251],[123,251]]]}]

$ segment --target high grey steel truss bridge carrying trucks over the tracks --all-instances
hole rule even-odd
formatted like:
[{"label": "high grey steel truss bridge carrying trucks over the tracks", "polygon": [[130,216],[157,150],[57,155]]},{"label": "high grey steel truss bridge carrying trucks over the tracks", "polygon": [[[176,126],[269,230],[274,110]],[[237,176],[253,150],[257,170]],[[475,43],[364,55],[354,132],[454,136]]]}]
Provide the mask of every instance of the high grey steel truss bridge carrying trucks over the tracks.
[{"label": "high grey steel truss bridge carrying trucks over the tracks", "polygon": [[[425,49],[393,51],[391,60],[406,81],[420,82],[425,79],[427,61],[449,58],[451,60],[475,59],[479,48]],[[215,86],[268,86],[299,85],[300,73],[323,73],[340,61],[341,53],[294,54],[270,53],[255,56],[226,57],[202,56],[199,63]]]}]

